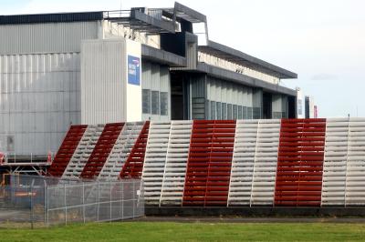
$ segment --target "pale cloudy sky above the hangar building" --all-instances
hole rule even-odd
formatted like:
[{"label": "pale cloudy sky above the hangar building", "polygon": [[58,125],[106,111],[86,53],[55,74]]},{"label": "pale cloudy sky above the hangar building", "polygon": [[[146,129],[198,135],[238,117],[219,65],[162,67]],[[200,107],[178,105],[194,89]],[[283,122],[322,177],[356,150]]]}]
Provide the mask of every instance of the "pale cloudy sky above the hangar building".
[{"label": "pale cloudy sky above the hangar building", "polygon": [[[209,38],[298,74],[318,115],[365,116],[365,1],[180,0],[208,18]],[[172,7],[170,0],[0,0],[0,15]]]}]

